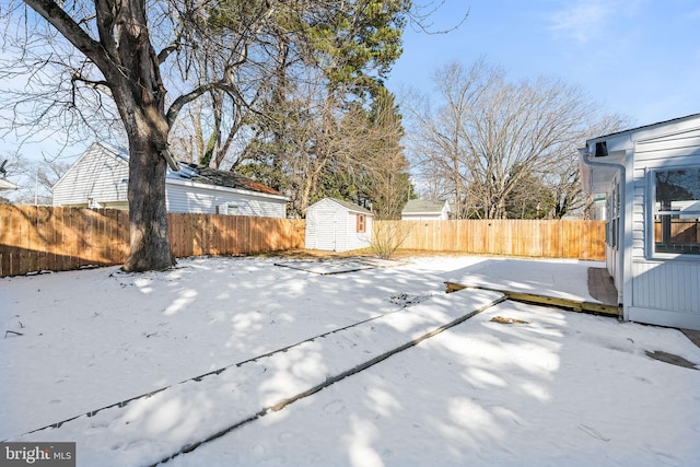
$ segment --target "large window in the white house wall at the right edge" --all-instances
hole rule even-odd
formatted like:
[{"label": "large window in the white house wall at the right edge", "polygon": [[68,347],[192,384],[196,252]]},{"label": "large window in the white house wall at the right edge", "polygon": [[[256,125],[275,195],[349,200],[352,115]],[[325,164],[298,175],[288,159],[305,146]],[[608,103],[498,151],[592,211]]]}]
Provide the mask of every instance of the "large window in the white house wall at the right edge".
[{"label": "large window in the white house wall at the right edge", "polygon": [[700,166],[655,171],[654,253],[700,255]]}]

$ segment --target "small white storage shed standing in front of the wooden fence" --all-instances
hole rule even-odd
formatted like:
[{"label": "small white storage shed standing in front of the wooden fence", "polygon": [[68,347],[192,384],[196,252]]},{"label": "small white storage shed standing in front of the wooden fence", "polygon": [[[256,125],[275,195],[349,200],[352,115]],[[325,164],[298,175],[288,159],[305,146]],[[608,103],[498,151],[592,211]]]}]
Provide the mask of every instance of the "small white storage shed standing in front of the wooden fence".
[{"label": "small white storage shed standing in front of the wooden fence", "polygon": [[324,198],[306,209],[306,248],[347,252],[372,244],[371,211],[352,202]]}]

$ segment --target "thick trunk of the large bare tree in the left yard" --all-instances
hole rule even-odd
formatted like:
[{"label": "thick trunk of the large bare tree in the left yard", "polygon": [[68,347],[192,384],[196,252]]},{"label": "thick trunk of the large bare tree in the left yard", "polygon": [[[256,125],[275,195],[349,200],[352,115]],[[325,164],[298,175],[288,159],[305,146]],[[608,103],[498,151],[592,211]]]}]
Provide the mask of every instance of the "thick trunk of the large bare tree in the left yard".
[{"label": "thick trunk of the large bare tree in the left yard", "polygon": [[163,270],[175,265],[167,231],[165,175],[170,125],[165,87],[151,46],[145,3],[122,0],[117,21],[118,52],[129,67],[108,69],[121,121],[129,138],[130,253],[126,271]]}]

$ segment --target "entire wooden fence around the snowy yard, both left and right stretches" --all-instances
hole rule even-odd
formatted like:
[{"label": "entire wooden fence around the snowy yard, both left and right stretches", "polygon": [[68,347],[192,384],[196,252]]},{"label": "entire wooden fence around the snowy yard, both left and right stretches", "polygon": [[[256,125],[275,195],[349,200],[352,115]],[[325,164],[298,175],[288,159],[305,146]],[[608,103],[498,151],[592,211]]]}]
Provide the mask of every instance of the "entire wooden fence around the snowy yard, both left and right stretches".
[{"label": "entire wooden fence around the snowy yard, both left and right stretches", "polygon": [[[376,221],[381,226],[383,221]],[[386,221],[385,221],[386,222]],[[600,221],[404,221],[401,248],[605,259]],[[303,220],[168,214],[176,257],[304,247]],[[0,206],[0,277],[119,265],[129,252],[127,211]]]}]

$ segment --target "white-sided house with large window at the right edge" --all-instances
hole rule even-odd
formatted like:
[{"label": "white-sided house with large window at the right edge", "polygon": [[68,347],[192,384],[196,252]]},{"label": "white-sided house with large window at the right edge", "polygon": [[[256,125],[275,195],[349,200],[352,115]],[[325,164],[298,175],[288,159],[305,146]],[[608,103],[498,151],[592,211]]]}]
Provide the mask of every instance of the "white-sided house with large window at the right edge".
[{"label": "white-sided house with large window at the right edge", "polygon": [[623,318],[700,329],[700,114],[591,139],[581,162]]}]

